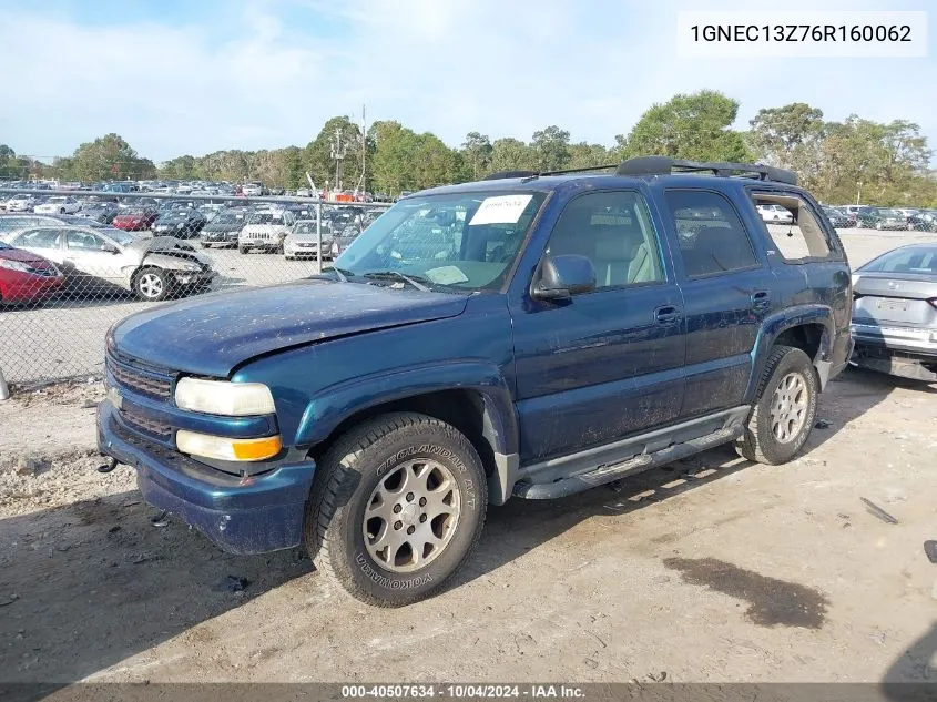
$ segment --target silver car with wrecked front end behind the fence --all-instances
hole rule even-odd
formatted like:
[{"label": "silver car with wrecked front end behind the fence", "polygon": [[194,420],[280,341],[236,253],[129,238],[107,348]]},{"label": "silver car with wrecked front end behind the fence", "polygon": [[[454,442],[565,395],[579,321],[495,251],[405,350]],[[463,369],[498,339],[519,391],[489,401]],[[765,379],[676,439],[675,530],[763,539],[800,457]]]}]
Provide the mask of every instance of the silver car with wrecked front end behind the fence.
[{"label": "silver car with wrecked front end behind the fence", "polygon": [[211,287],[217,275],[211,260],[172,236],[143,237],[90,226],[33,226],[4,241],[58,265],[73,291],[104,292],[113,286],[157,302]]}]

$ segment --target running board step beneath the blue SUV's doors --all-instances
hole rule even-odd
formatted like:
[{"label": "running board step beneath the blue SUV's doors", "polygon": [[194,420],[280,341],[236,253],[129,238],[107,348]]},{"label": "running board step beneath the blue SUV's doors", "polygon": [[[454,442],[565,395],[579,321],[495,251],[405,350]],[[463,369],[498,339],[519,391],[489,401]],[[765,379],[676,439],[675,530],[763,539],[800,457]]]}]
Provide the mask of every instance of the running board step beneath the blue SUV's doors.
[{"label": "running board step beneath the blue SUV's doors", "polygon": [[[710,421],[713,419],[721,420],[720,424],[722,427],[711,430],[709,434],[704,434],[703,436],[685,438],[685,440],[671,444],[670,446],[659,450],[642,452],[636,456],[634,456],[632,451],[629,457],[623,458],[622,460],[604,462],[589,470],[577,472],[576,475],[558,477],[551,482],[528,482],[523,481],[523,478],[521,478],[521,481],[515,484],[513,494],[517,497],[531,500],[547,500],[566,497],[568,495],[594,488],[595,486],[603,485],[605,482],[619,480],[627,476],[641,472],[642,470],[671,464],[675,460],[680,460],[681,458],[699,454],[700,451],[715,448],[716,446],[733,441],[744,434],[744,419],[747,417],[748,409],[750,407],[739,407],[724,414],[721,413],[723,415],[721,417],[719,415],[715,417],[707,417],[706,419]],[[683,425],[680,428],[689,429],[690,427]],[[676,427],[674,427],[674,429],[676,429]],[[644,441],[646,441],[646,439],[644,439]],[[644,441],[642,441],[642,437],[623,441],[622,449],[625,449],[628,446],[633,447],[635,444]]]}]

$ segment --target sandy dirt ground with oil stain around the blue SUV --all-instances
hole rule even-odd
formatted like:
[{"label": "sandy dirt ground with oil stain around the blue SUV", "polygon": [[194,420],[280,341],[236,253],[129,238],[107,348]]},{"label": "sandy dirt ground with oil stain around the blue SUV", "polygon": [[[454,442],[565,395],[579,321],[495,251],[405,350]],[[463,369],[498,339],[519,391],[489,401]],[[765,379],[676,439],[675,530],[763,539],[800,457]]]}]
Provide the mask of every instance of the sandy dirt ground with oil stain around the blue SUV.
[{"label": "sandy dirt ground with oil stain around the blue SUV", "polygon": [[937,680],[935,387],[849,370],[791,465],[723,448],[491,508],[458,581],[399,610],[151,523],[130,469],[93,470],[98,391],[0,404],[0,680]]}]

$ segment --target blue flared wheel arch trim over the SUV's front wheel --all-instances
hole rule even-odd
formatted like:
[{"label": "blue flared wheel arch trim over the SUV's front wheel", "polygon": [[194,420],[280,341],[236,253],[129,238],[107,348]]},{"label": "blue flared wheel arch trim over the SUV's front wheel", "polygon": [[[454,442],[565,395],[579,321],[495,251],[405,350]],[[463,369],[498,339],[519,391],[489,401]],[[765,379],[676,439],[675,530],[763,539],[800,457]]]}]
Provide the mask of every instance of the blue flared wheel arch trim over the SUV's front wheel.
[{"label": "blue flared wheel arch trim over the SUV's front wheel", "polygon": [[440,390],[472,390],[483,403],[483,430],[496,454],[518,452],[518,423],[507,381],[497,366],[454,360],[361,376],[312,397],[296,431],[296,446],[325,440],[352,415],[377,405]]}]

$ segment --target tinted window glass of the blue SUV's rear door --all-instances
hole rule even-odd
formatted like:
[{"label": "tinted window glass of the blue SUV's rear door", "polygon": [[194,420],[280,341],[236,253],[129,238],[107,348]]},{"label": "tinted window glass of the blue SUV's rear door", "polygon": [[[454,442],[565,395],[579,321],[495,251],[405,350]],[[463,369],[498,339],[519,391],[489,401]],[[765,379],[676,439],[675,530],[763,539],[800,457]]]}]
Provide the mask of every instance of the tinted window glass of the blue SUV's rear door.
[{"label": "tinted window glass of the blue SUV's rear door", "polygon": [[752,241],[725,196],[703,190],[669,190],[664,199],[688,278],[758,266]]}]

